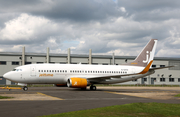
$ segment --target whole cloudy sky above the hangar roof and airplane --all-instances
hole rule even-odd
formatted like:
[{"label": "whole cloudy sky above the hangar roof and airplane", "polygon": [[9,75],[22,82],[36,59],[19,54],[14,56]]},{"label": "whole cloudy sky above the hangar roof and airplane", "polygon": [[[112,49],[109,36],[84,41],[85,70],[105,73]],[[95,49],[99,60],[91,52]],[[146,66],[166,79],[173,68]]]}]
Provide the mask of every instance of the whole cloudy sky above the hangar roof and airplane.
[{"label": "whole cloudy sky above the hangar roof and airplane", "polygon": [[0,1],[0,52],[137,56],[158,39],[156,57],[180,58],[179,0]]}]

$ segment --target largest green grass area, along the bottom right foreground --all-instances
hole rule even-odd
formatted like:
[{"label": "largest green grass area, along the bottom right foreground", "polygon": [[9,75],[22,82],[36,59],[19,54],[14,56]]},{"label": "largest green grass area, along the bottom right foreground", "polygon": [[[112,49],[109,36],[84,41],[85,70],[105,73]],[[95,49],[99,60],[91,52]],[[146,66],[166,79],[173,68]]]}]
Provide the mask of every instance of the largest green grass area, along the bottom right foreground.
[{"label": "largest green grass area, along the bottom right foreground", "polygon": [[[87,105],[88,106],[88,105]],[[180,104],[131,103],[41,117],[180,117]]]}]

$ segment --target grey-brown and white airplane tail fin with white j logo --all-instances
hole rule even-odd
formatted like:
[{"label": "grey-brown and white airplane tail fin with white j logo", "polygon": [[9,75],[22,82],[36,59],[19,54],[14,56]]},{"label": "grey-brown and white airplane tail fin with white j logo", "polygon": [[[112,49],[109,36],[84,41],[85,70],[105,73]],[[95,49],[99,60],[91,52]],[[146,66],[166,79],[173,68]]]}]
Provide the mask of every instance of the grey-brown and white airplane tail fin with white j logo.
[{"label": "grey-brown and white airplane tail fin with white j logo", "polygon": [[128,65],[142,67],[151,66],[154,59],[157,41],[157,39],[151,39],[136,59],[133,62],[128,63]]}]

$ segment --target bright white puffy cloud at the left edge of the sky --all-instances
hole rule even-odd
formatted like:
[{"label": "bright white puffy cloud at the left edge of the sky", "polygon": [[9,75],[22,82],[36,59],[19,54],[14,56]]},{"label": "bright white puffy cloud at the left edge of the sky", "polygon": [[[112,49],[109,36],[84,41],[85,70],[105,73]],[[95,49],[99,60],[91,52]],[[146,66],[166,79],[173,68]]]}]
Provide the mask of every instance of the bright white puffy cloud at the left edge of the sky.
[{"label": "bright white puffy cloud at the left edge of the sky", "polygon": [[[31,42],[56,30],[56,24],[43,17],[35,17],[21,14],[18,18],[5,23],[4,29],[0,31],[1,41]],[[47,37],[46,37],[47,38]]]}]

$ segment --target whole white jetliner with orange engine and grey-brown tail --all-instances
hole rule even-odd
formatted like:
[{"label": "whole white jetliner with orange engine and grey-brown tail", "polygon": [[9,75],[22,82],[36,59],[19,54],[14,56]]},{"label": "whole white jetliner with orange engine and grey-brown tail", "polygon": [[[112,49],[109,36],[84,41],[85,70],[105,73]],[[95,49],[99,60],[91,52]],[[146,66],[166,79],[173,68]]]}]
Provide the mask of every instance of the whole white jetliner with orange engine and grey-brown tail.
[{"label": "whole white jetliner with orange engine and grey-brown tail", "polygon": [[3,77],[24,86],[25,91],[28,90],[27,84],[66,85],[81,89],[90,86],[90,90],[96,90],[94,84],[127,82],[162,69],[151,68],[156,45],[157,39],[151,39],[134,61],[124,65],[30,64],[16,67]]}]

